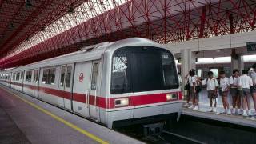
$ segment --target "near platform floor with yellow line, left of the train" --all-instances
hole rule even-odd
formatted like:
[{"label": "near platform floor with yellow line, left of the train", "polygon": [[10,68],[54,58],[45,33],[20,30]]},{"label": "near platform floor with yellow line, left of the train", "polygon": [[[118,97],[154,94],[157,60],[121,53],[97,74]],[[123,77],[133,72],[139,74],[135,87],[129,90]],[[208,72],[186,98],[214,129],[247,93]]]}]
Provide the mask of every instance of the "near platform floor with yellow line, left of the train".
[{"label": "near platform floor with yellow line, left of the train", "polygon": [[0,85],[0,143],[142,143]]}]

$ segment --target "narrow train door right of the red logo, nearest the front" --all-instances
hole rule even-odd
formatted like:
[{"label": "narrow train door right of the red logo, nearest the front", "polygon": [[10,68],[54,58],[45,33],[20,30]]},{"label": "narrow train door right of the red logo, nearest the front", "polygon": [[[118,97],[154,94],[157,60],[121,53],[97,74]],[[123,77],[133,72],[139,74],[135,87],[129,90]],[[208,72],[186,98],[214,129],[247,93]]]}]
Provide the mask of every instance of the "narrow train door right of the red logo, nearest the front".
[{"label": "narrow train door right of the red logo, nearest the front", "polygon": [[91,80],[90,80],[90,98],[89,98],[89,114],[90,118],[94,118],[99,120],[99,107],[98,107],[98,99],[100,98],[100,84],[101,84],[101,66],[100,61],[92,62],[92,72],[91,72]]}]

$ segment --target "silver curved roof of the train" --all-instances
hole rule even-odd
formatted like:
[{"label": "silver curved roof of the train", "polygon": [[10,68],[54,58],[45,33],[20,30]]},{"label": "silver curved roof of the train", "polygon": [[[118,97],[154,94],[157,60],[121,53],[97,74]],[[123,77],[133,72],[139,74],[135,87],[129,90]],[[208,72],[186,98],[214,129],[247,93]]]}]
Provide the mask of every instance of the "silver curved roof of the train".
[{"label": "silver curved roof of the train", "polygon": [[[93,46],[85,46],[82,47],[81,50],[70,53],[70,54],[64,54],[58,57],[49,58],[40,62],[34,62],[31,64],[28,64],[26,66],[20,66],[17,68],[14,68],[13,70],[6,70],[5,73],[9,71],[19,71],[19,70],[30,70],[35,69],[38,67],[49,67],[49,66],[59,66],[74,62],[85,62],[90,60],[96,60],[102,57],[102,54],[106,51],[114,52],[114,50],[120,48],[120,47],[126,47],[126,46],[158,46],[165,48],[161,44],[151,41],[146,38],[126,38],[122,39],[117,42],[102,42],[97,45]],[[2,71],[0,72],[2,73]]]}]

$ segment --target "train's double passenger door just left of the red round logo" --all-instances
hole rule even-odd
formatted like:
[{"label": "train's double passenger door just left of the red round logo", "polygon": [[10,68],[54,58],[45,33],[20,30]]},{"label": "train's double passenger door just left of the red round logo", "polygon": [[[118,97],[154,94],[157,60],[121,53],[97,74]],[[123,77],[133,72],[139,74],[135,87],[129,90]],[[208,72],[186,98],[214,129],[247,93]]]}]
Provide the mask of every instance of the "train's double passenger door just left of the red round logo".
[{"label": "train's double passenger door just left of the red round logo", "polygon": [[58,90],[62,90],[62,97],[58,97],[58,105],[71,110],[71,85],[73,65],[62,65]]}]

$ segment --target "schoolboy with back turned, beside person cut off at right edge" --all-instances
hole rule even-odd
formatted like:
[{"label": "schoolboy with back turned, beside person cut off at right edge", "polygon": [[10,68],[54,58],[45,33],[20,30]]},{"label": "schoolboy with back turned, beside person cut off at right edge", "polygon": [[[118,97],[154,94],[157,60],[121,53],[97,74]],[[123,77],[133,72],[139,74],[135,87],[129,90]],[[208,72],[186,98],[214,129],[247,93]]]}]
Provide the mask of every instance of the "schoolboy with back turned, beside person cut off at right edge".
[{"label": "schoolboy with back turned, beside person cut off at right edge", "polygon": [[[242,70],[242,76],[238,78],[238,86],[241,90],[242,108],[244,117],[251,115],[250,110],[250,86],[253,86],[252,79],[247,75],[248,70]],[[248,110],[248,114],[246,113]]]}]

